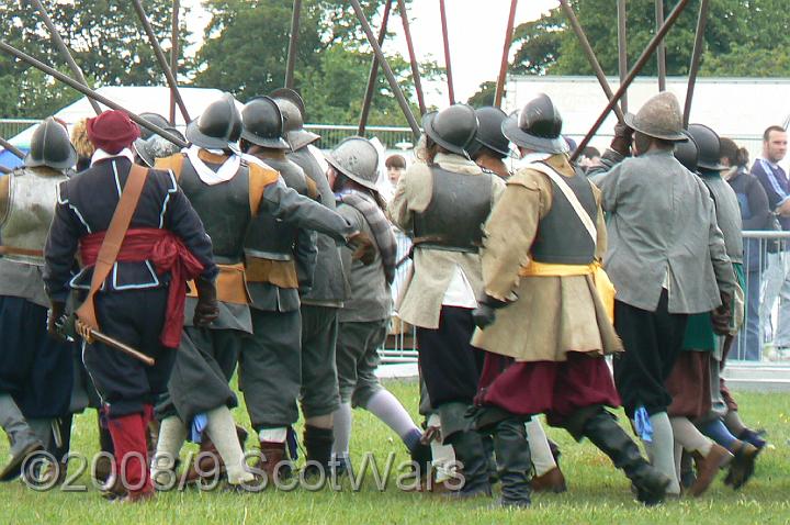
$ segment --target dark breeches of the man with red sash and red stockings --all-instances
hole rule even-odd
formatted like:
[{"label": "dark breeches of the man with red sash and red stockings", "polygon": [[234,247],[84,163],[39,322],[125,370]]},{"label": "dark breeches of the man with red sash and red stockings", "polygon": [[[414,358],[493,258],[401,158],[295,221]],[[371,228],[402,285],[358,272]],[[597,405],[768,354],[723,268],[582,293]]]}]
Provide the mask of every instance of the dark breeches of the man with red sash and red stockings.
[{"label": "dark breeches of the man with red sash and red stockings", "polygon": [[143,412],[167,391],[176,350],[159,343],[167,289],[99,292],[95,311],[101,331],[153,357],[148,367],[102,343],[86,345],[82,360],[110,417]]}]

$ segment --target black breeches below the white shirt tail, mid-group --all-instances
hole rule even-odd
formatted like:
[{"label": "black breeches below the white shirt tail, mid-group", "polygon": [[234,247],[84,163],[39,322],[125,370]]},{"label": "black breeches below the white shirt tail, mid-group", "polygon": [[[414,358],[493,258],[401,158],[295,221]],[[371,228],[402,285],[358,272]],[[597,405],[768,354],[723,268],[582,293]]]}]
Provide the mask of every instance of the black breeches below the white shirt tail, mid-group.
[{"label": "black breeches below the white shirt tail, mid-group", "polygon": [[439,328],[417,328],[419,366],[431,405],[472,404],[485,354],[470,344],[474,333],[472,310],[442,306]]}]

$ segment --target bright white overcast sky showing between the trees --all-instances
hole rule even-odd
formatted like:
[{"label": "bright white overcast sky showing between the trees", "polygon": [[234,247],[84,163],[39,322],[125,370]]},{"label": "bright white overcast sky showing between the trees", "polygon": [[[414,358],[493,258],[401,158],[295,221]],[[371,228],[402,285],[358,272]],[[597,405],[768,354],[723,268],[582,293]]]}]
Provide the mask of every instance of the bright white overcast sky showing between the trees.
[{"label": "bright white overcast sky showing between the trees", "polygon": [[[189,19],[191,30],[194,38],[201,38],[202,27],[208,22],[201,0],[181,0],[181,4],[192,8]],[[521,0],[516,11],[516,25],[535,20],[557,4],[557,0]],[[495,80],[499,72],[510,0],[447,0],[445,5],[455,98],[465,101],[482,82]],[[435,59],[443,65],[439,0],[414,0],[409,15],[417,58]],[[379,22],[372,21],[374,30]],[[390,29],[395,38],[385,43],[385,49],[408,56],[403,25],[397,16],[391,19]],[[426,87],[426,97],[429,103],[445,105],[447,94],[439,89],[438,86]]]}]

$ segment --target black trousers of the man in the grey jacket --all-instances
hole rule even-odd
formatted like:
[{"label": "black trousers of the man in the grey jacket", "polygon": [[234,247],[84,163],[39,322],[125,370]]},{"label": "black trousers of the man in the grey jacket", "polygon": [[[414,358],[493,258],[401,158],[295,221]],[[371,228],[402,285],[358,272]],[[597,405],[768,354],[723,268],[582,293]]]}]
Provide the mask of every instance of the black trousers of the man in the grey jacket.
[{"label": "black trousers of the man in the grey jacket", "polygon": [[614,356],[614,384],[632,418],[639,406],[653,415],[672,404],[664,384],[682,351],[688,315],[669,313],[667,304],[666,290],[655,312],[614,301],[614,328],[625,348]]}]

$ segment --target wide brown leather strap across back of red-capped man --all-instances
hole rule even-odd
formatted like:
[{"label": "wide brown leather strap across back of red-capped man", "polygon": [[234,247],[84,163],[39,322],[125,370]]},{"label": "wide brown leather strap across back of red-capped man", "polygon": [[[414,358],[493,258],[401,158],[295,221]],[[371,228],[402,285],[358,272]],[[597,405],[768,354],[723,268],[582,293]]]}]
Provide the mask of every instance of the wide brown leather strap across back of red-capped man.
[{"label": "wide brown leather strap across back of red-capped man", "polygon": [[115,212],[110,220],[110,227],[104,234],[104,242],[99,248],[95,265],[93,266],[93,277],[91,278],[91,287],[84,302],[77,309],[79,320],[88,325],[91,329],[99,329],[99,321],[95,315],[95,304],[93,297],[101,288],[104,279],[110,275],[117,259],[121,245],[123,244],[126,232],[132,223],[132,215],[137,209],[137,202],[143,193],[148,170],[136,164],[132,165],[126,185],[124,186],[121,199],[119,200]]}]

